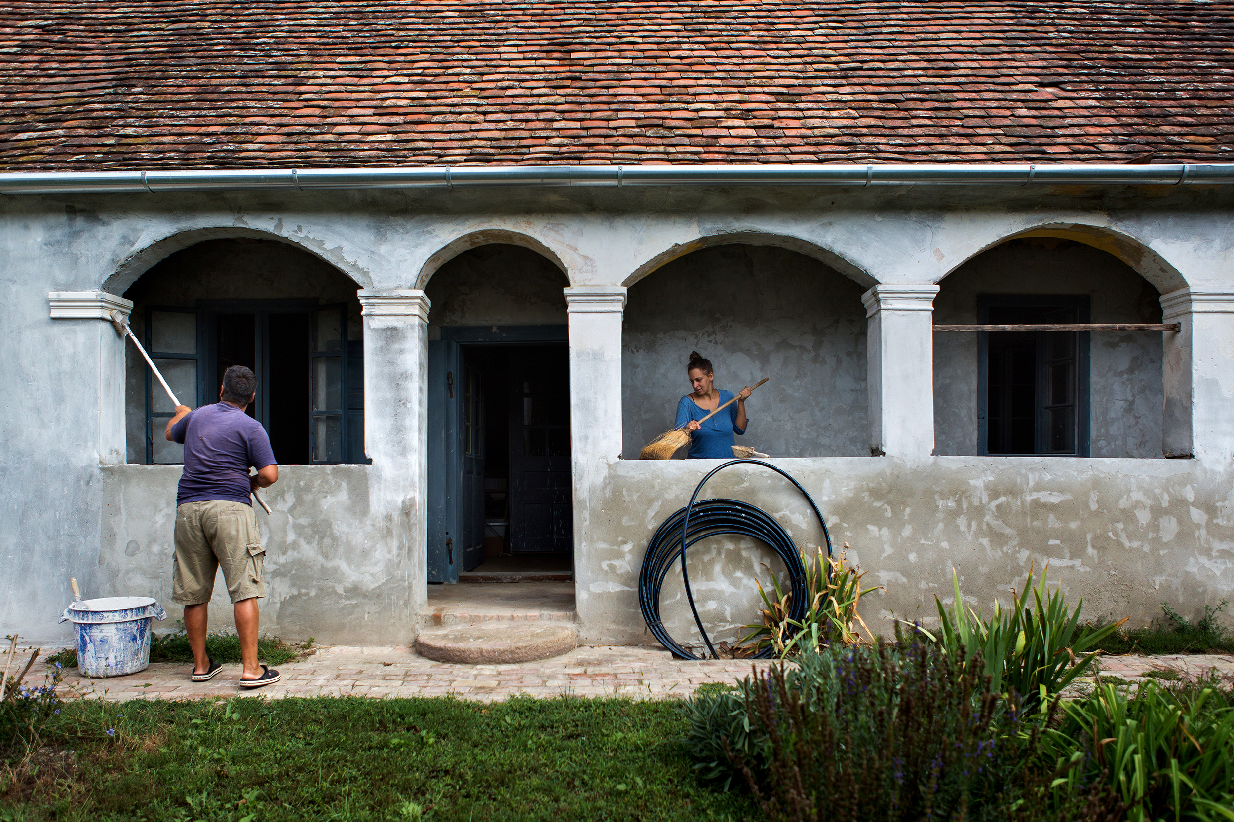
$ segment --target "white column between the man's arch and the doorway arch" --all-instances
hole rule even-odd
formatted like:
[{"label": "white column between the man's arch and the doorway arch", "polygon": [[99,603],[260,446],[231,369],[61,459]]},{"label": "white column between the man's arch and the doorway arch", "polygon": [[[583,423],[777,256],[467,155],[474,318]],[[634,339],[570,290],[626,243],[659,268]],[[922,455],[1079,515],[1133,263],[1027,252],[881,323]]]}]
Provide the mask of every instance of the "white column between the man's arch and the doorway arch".
[{"label": "white column between the man's arch and the doorway arch", "polygon": [[[373,460],[373,530],[400,563],[410,633],[428,596],[428,297],[411,288],[358,293],[364,317],[364,452]],[[397,557],[397,560],[394,560]],[[406,636],[402,633],[401,636]]]}]

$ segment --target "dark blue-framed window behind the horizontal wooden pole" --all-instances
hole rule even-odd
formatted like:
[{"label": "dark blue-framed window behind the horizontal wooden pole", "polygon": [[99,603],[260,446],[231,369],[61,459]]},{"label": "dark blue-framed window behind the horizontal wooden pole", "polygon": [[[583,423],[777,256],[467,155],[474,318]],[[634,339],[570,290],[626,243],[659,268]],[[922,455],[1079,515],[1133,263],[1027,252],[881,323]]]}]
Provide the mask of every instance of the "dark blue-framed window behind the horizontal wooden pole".
[{"label": "dark blue-framed window behind the horizontal wooden pole", "polygon": [[[982,295],[981,324],[1090,322],[1083,295]],[[1091,452],[1088,332],[977,334],[977,454],[1080,456]]]}]

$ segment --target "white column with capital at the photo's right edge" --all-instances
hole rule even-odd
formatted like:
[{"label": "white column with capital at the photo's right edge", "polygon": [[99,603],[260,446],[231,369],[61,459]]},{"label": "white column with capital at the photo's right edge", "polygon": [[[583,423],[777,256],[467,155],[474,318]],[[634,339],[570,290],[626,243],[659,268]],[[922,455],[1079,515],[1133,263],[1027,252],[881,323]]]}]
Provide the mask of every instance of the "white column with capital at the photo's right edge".
[{"label": "white column with capital at the photo's right edge", "polygon": [[1167,457],[1229,461],[1234,454],[1234,292],[1180,288],[1161,297]]}]

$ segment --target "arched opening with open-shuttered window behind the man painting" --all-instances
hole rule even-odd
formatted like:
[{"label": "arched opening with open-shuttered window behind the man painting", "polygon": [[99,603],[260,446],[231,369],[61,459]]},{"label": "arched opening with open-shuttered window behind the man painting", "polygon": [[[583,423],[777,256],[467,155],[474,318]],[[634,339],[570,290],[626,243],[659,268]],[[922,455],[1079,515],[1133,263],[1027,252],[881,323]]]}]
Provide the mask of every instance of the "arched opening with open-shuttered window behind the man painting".
[{"label": "arched opening with open-shuttered window behind the man painting", "polygon": [[[365,462],[364,344],[357,283],[320,258],[274,239],[207,239],[164,256],[128,286],[130,323],[194,408],[218,401],[222,373],[258,378],[248,413],[281,465]],[[128,461],[183,462],[168,442],[167,394],[127,352]]]}]

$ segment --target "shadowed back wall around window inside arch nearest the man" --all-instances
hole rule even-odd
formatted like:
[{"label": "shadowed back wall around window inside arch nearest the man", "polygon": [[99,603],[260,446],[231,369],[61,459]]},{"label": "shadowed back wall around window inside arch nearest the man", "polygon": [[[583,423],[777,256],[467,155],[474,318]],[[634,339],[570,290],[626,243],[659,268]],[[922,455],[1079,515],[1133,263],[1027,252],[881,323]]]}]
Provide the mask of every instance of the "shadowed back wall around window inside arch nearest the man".
[{"label": "shadowed back wall around window inside arch nearest the man", "polygon": [[[316,299],[346,303],[347,339],[364,339],[359,286],[325,260],[274,240],[252,238],[202,240],[154,264],[125,292],[133,301],[130,324],[146,336],[146,307],[193,308],[199,299]],[[146,372],[133,346],[126,348],[126,413],[128,461],[146,462]],[[162,392],[157,383],[155,392]],[[176,392],[179,396],[179,392]],[[180,397],[196,405],[195,399]],[[157,436],[159,434],[155,434]]]}]

